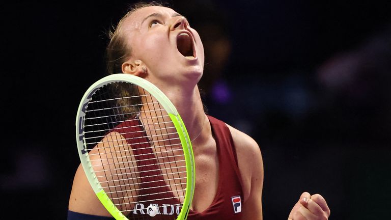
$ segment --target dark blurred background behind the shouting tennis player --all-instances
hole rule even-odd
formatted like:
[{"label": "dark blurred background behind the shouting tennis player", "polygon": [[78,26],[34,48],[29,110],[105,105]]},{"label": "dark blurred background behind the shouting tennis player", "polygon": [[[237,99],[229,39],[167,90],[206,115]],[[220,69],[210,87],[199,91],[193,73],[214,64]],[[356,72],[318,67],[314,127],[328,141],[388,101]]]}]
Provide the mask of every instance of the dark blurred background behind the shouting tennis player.
[{"label": "dark blurred background behind the shouting tennis player", "polygon": [[[66,219],[76,109],[131,3],[1,3],[4,211]],[[389,218],[391,3],[168,3],[204,42],[208,113],[261,148],[264,219],[287,219],[302,191],[330,219]]]}]

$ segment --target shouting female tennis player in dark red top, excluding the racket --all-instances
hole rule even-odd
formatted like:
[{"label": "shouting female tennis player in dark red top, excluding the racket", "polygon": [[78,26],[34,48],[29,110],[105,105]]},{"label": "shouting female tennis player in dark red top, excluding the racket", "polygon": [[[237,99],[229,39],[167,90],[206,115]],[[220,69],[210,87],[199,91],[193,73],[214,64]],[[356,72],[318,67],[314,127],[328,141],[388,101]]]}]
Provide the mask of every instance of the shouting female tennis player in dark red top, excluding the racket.
[{"label": "shouting female tennis player in dark red top, excluding the racket", "polygon": [[[196,164],[188,219],[262,219],[260,148],[245,133],[205,114],[197,86],[203,75],[204,48],[186,18],[158,4],[137,4],[111,36],[107,57],[110,73],[147,79],[177,107]],[[173,219],[172,213],[170,207],[157,210],[158,219]],[[303,193],[288,218],[327,219],[329,215],[322,196]],[[110,216],[79,167],[68,219],[113,219]]]}]

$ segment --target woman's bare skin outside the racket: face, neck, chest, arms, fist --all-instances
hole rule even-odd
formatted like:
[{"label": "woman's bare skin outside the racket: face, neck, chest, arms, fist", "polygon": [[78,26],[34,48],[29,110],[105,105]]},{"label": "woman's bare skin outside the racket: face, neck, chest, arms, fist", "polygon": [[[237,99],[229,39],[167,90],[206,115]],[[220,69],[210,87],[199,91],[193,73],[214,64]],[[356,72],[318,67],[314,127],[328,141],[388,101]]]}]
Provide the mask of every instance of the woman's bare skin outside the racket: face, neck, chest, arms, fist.
[{"label": "woman's bare skin outside the racket: face, neck, chest, arms, fist", "polygon": [[[203,75],[204,48],[200,36],[186,18],[165,7],[146,7],[135,11],[120,27],[132,56],[122,71],[151,81],[177,107],[193,139],[196,183],[191,209],[203,211],[217,191],[218,158],[211,127],[205,117],[197,83]],[[177,36],[187,33],[193,40],[194,57],[184,57],[177,49]],[[245,133],[229,126],[238,156],[243,183],[243,218],[262,219],[263,161],[258,144]],[[121,139],[121,135],[111,138]],[[213,183],[213,184],[211,184]],[[305,198],[305,199],[304,199]],[[93,193],[81,168],[76,171],[69,200],[69,210],[110,216]],[[289,219],[327,219],[330,210],[320,195],[303,193],[289,214]]]}]

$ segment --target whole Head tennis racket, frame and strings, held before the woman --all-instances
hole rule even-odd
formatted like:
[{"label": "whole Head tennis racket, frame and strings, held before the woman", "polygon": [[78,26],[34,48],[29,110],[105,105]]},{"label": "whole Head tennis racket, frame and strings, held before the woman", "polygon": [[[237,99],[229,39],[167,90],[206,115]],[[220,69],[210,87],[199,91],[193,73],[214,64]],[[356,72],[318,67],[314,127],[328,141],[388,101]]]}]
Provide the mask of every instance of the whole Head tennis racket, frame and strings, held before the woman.
[{"label": "whole Head tennis racket, frame and strings, held before the woman", "polygon": [[187,218],[195,167],[185,125],[151,82],[112,74],[82,97],[76,140],[83,170],[119,219]]}]

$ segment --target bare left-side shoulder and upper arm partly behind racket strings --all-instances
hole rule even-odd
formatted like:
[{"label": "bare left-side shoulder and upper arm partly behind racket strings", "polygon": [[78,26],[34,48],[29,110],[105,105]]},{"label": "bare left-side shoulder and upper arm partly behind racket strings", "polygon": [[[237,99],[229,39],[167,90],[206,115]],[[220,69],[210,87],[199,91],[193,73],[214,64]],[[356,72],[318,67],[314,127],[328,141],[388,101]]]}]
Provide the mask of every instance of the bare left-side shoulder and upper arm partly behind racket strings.
[{"label": "bare left-side shoulder and upper arm partly behind racket strings", "polygon": [[[113,163],[118,164],[119,159],[116,157],[116,152],[120,152],[121,150],[126,152],[126,156],[124,156],[125,153],[121,155],[121,161],[123,163],[126,163],[126,161],[135,161],[132,151],[126,151],[128,147],[129,145],[127,145],[124,136],[118,132],[110,132],[89,153],[92,166],[101,186],[105,188],[106,193],[109,193],[111,190],[116,192],[116,196],[119,199],[113,199],[115,204],[124,204],[120,206],[120,210],[130,210],[131,207],[128,204],[133,201],[129,198],[127,203],[124,203],[121,198],[126,198],[126,195],[124,195],[126,193],[123,192],[121,186],[114,184],[118,180],[118,176],[121,176],[121,172],[131,172],[133,174],[137,172],[136,168],[132,168],[133,170],[117,169],[115,174],[111,174],[111,170],[113,170],[111,166],[113,166]],[[122,167],[119,164],[117,168]],[[95,195],[81,164],[73,180],[68,208],[70,211],[78,213],[111,216]]]}]

